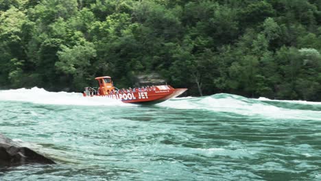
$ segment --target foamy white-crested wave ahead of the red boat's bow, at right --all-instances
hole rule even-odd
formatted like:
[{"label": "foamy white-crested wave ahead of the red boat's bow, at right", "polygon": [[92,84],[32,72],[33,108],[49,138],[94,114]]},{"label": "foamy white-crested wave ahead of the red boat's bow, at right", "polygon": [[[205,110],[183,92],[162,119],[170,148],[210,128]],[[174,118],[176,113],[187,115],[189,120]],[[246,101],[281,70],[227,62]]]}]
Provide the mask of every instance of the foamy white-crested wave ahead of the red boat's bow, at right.
[{"label": "foamy white-crested wave ahead of the red boat's bow, at right", "polygon": [[[265,100],[266,99],[264,99],[264,101]],[[178,109],[232,112],[244,116],[261,116],[273,119],[308,119],[321,121],[320,111],[279,108],[271,104],[266,104],[260,99],[248,99],[238,95],[217,94],[200,98],[174,99],[174,101],[165,101],[159,104],[159,106]],[[300,101],[296,101],[296,104],[299,103]],[[305,103],[306,102],[302,102],[302,104]]]}]

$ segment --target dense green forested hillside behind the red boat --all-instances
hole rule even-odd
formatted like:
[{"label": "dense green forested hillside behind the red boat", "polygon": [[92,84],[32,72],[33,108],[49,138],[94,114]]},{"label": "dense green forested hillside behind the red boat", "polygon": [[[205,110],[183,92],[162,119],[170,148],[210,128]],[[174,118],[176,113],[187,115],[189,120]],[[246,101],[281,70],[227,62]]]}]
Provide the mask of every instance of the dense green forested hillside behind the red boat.
[{"label": "dense green forested hillside behind the red boat", "polygon": [[320,0],[0,0],[0,88],[159,73],[189,95],[321,100]]}]

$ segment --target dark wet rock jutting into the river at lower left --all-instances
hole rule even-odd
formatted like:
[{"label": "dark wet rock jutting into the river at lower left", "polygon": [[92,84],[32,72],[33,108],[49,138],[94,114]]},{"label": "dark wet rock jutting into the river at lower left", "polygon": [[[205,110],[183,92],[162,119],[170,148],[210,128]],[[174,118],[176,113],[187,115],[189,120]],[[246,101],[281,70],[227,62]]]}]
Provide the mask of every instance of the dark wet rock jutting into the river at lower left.
[{"label": "dark wet rock jutting into the river at lower left", "polygon": [[10,138],[0,134],[0,167],[19,166],[32,163],[54,164],[55,162],[34,152],[32,149],[21,147]]}]

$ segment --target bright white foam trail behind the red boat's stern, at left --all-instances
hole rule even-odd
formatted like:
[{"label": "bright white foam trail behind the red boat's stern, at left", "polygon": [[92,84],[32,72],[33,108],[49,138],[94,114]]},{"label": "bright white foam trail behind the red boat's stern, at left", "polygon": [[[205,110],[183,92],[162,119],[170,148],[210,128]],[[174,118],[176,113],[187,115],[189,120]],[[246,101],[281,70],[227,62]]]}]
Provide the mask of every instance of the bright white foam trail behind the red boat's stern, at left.
[{"label": "bright white foam trail behind the red boat's stern, at left", "polygon": [[79,105],[79,106],[128,106],[108,97],[83,97],[82,93],[49,92],[43,88],[19,88],[0,90],[0,101],[27,101],[34,104]]}]

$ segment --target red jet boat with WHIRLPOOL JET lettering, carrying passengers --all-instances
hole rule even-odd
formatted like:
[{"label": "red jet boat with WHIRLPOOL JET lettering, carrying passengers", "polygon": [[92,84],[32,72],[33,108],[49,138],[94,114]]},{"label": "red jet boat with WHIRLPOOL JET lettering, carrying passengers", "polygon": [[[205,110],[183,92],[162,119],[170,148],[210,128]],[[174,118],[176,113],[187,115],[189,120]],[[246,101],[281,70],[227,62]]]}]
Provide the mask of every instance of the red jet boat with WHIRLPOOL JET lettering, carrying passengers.
[{"label": "red jet boat with WHIRLPOOL JET lettering, carrying passengers", "polygon": [[111,77],[95,77],[98,81],[99,88],[86,87],[84,97],[101,96],[111,99],[119,99],[125,103],[136,104],[157,104],[167,99],[177,97],[184,93],[187,88],[173,88],[169,85],[146,86],[143,88],[115,88]]}]

